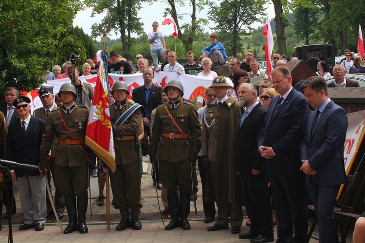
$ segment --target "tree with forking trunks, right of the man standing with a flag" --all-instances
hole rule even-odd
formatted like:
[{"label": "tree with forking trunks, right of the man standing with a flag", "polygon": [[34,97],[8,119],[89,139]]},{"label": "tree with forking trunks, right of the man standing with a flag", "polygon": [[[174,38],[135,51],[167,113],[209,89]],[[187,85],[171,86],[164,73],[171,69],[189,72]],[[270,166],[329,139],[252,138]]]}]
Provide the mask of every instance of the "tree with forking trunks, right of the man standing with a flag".
[{"label": "tree with forking trunks, right of the man standing with a flag", "polygon": [[[162,3],[165,2],[165,0],[161,1]],[[183,7],[186,2],[189,2],[190,6],[192,7],[191,11],[191,22],[185,23],[182,26],[179,24],[179,19],[183,17],[184,14],[179,14],[177,12],[176,6],[179,5]],[[183,46],[185,48],[185,52],[189,52],[193,48],[193,41],[197,37],[201,37],[203,35],[203,26],[208,23],[208,21],[204,18],[198,18],[196,17],[196,11],[198,8],[198,11],[201,11],[204,6],[207,5],[205,0],[167,0],[167,3],[169,4],[169,7],[165,9],[165,15],[168,13],[171,14],[171,17],[174,19],[176,23],[176,27],[178,29],[178,37],[183,42]]]}]

